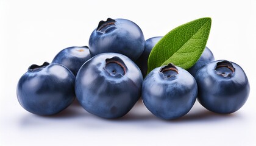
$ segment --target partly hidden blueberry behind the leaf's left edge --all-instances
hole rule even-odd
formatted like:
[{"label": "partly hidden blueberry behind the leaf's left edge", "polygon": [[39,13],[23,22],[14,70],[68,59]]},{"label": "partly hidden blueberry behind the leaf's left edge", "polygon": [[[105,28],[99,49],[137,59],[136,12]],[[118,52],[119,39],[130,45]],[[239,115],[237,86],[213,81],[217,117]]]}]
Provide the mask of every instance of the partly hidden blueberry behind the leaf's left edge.
[{"label": "partly hidden blueberry behind the leaf's left edge", "polygon": [[146,40],[143,53],[140,55],[140,58],[138,58],[138,60],[135,61],[135,63],[140,68],[143,77],[146,77],[148,71],[149,54],[152,48],[155,46],[155,44],[157,44],[159,40],[161,40],[161,38],[163,38],[163,36],[155,36]]}]

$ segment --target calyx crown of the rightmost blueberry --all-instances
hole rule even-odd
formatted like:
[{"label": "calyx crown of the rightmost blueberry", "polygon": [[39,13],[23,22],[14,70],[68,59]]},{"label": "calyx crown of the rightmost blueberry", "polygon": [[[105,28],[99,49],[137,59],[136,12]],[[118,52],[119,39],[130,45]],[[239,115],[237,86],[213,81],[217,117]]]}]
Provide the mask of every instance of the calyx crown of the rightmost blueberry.
[{"label": "calyx crown of the rightmost blueberry", "polygon": [[222,77],[231,77],[235,72],[235,68],[230,61],[224,60],[216,64],[215,71],[217,75],[221,75]]}]

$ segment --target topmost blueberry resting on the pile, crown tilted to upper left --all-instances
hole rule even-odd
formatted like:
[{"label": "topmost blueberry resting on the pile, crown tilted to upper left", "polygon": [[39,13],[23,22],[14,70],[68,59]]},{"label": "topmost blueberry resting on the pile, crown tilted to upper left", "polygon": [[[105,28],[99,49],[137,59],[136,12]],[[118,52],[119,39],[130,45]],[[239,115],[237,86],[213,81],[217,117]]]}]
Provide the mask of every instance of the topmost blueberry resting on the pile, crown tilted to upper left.
[{"label": "topmost blueberry resting on the pile, crown tilted to upper left", "polygon": [[137,60],[144,50],[144,35],[140,27],[127,19],[111,19],[100,21],[89,39],[92,56],[115,52]]}]

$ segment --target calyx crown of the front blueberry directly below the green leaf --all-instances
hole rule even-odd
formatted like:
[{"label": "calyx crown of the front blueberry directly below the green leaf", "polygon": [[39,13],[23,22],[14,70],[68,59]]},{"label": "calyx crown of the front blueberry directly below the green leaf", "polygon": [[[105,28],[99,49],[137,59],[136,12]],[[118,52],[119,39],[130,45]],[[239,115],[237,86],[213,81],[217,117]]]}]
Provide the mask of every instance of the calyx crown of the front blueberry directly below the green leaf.
[{"label": "calyx crown of the front blueberry directly below the green leaf", "polygon": [[168,65],[163,66],[159,73],[163,74],[163,78],[167,79],[179,74],[179,71],[174,64],[169,63]]}]

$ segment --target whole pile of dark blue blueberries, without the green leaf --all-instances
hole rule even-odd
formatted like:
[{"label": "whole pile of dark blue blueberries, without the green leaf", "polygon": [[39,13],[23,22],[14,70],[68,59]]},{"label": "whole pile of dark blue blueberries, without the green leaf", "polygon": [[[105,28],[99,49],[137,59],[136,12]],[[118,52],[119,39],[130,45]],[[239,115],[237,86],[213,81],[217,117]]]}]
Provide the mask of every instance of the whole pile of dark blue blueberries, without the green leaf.
[{"label": "whole pile of dark blue blueberries, without the green leaf", "polygon": [[77,98],[86,111],[107,119],[124,116],[140,97],[152,114],[167,120],[187,114],[196,99],[221,114],[244,105],[250,87],[243,69],[215,61],[207,47],[188,71],[169,63],[147,74],[149,54],[161,38],[145,41],[127,19],[100,21],[89,47],[68,47],[52,63],[32,64],[18,82],[18,101],[30,113],[49,116]]}]

